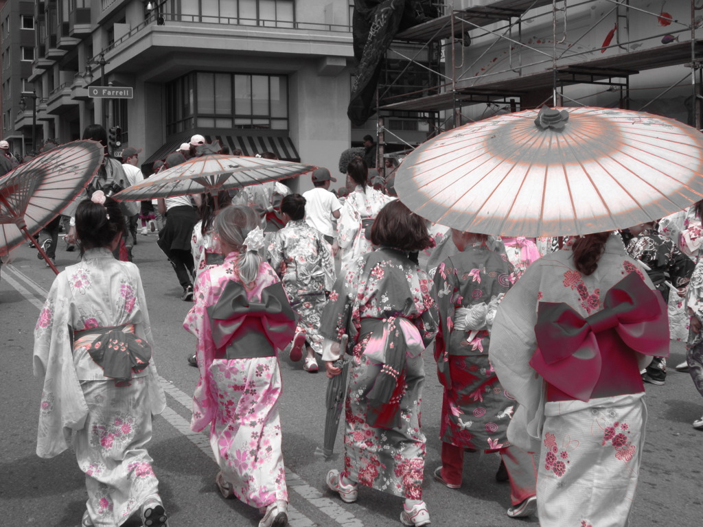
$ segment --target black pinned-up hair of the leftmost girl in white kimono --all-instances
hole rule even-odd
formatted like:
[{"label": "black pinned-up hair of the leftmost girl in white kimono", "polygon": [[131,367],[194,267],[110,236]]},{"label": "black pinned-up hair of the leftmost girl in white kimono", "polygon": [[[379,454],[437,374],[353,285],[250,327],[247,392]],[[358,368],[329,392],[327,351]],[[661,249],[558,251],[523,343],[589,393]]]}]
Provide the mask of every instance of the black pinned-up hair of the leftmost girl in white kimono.
[{"label": "black pinned-up hair of the leftmost girl in white kimono", "polygon": [[120,204],[111,197],[105,204],[83,200],[76,209],[76,234],[81,250],[110,247],[115,236],[124,233],[124,216]]}]

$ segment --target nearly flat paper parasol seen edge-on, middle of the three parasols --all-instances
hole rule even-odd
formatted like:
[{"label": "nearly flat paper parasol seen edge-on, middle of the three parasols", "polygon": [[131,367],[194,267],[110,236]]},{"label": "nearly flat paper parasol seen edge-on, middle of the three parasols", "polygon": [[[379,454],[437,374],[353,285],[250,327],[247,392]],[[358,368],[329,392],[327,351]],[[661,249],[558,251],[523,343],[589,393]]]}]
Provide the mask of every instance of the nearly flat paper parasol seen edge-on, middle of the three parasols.
[{"label": "nearly flat paper parasol seen edge-on, middle of the three parasols", "polygon": [[220,190],[292,178],[316,168],[309,164],[263,157],[204,155],[160,171],[143,183],[126,188],[113,197],[117,201],[142,201],[155,197],[204,193],[217,196]]}]

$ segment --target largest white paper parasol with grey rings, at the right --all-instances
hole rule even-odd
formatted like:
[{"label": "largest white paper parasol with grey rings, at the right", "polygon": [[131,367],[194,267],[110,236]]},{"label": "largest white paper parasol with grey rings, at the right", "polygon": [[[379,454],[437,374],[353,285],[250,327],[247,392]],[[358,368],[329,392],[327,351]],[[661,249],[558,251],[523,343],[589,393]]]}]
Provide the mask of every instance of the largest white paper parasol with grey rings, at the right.
[{"label": "largest white paper parasol with grey rings, at the right", "polygon": [[458,230],[508,236],[626,228],[703,199],[703,135],[673,119],[543,108],[460,126],[396,171],[408,208]]}]

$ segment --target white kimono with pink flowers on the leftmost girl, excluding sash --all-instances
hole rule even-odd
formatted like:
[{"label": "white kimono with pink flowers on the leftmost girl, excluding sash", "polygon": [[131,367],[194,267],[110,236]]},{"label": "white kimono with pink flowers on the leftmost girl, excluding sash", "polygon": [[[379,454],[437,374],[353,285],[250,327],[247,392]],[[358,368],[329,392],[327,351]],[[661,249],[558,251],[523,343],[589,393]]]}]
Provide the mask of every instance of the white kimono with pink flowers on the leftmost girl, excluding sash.
[{"label": "white kimono with pink flowers on the leftmost girl, excluding sash", "polygon": [[72,344],[73,332],[127,325],[153,345],[139,270],[108,249],[89,249],[56,276],[34,329],[34,375],[44,377],[37,455],[56,456],[72,443],[95,526],[122,525],[158,499],[146,443],[166,401],[153,359],[117,386],[84,345]]}]

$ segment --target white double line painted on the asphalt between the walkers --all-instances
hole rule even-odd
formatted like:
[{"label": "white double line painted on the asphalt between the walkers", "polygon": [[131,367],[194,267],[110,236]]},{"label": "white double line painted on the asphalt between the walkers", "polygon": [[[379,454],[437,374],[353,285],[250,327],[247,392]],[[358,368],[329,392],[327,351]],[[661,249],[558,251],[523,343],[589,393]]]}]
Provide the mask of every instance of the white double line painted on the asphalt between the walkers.
[{"label": "white double line painted on the asphalt between the walkers", "polygon": [[[39,301],[37,297],[29,292],[25,287],[23,287],[18,280],[22,280],[28,287],[34,289],[40,297],[46,298],[49,296],[49,292],[46,291],[41,285],[34,282],[30,277],[24,273],[18,271],[17,268],[11,265],[3,266],[4,279],[6,282],[16,289],[22,297],[30,301],[30,303],[35,306],[39,311],[44,308],[44,302]],[[11,273],[14,278],[8,277],[7,273]],[[17,280],[15,280],[15,278]],[[176,403],[181,404],[188,412],[192,411],[193,397],[189,396],[184,391],[176,388],[172,382],[159,376],[159,383],[164,389],[165,393],[169,395]],[[191,430],[191,423],[186,419],[183,419],[181,415],[169,408],[168,406],[161,412],[161,416],[177,431],[181,432],[183,436],[188,438],[202,453],[207,455],[214,462],[214,455],[212,454],[212,448],[210,448],[210,441],[208,434],[204,432],[194,432]],[[318,509],[318,511],[325,514],[325,516],[330,517],[342,527],[363,527],[361,520],[356,518],[354,514],[349,512],[344,507],[340,506],[335,500],[330,500],[329,497],[325,497],[317,488],[309,485],[307,481],[302,479],[300,476],[295,474],[288,469],[285,470],[285,482],[288,485],[289,490],[295,490],[295,493],[302,497],[304,500],[309,502],[312,507]],[[289,497],[290,499],[290,497]],[[317,523],[314,523],[307,516],[299,512],[295,507],[292,507],[290,503],[288,504],[288,524],[290,527],[315,527]]]}]

